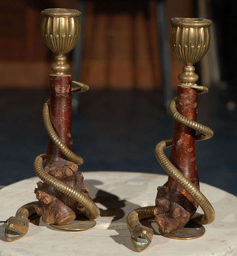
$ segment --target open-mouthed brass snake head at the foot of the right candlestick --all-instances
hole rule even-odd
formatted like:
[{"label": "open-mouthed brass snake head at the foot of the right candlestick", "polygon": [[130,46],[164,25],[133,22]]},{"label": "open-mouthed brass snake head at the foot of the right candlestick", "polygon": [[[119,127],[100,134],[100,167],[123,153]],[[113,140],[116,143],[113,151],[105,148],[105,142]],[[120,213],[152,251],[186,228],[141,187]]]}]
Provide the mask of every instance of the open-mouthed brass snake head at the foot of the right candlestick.
[{"label": "open-mouthed brass snake head at the foot of the right candlestick", "polygon": [[138,252],[141,252],[147,248],[151,243],[154,231],[152,228],[148,228],[142,225],[136,225],[131,232],[131,240]]}]

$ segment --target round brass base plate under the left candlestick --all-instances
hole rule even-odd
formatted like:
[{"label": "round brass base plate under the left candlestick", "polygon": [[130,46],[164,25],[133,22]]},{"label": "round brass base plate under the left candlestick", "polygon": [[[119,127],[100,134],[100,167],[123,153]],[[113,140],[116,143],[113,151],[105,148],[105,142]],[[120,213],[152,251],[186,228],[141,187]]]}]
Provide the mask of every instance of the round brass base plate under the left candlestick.
[{"label": "round brass base plate under the left candlestick", "polygon": [[51,227],[67,230],[67,231],[82,231],[93,228],[96,225],[95,220],[73,220],[70,224],[57,225],[50,224]]}]

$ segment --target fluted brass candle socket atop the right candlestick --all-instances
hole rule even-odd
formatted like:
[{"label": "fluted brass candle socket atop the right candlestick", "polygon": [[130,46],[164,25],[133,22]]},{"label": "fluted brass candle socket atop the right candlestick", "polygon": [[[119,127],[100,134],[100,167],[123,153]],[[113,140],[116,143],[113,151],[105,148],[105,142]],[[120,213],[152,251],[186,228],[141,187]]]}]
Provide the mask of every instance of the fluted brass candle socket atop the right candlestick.
[{"label": "fluted brass candle socket atop the right candlestick", "polygon": [[208,51],[212,21],[200,18],[172,18],[170,45],[185,66],[178,79],[182,85],[192,86],[198,80],[193,64]]}]

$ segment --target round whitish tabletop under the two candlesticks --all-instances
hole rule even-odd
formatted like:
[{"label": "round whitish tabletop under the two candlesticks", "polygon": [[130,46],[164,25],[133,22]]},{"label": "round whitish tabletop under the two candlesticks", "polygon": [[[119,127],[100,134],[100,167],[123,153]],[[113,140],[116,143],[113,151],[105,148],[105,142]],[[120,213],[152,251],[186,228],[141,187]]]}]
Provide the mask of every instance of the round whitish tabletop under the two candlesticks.
[{"label": "round whitish tabletop under the two candlesticks", "polygon": [[[106,210],[116,208],[124,217],[99,217],[97,225],[86,231],[67,232],[40,223],[29,223],[28,233],[14,242],[6,242],[5,224],[0,223],[1,256],[89,256],[135,255],[126,228],[127,214],[138,207],[154,205],[157,186],[167,181],[167,176],[132,172],[85,172],[85,184],[91,197],[117,196],[119,201],[101,202]],[[35,201],[33,193],[37,177],[26,179],[0,190],[0,218],[15,215],[25,203]],[[146,256],[207,256],[237,255],[237,197],[221,189],[201,183],[201,191],[216,211],[214,223],[206,225],[204,236],[194,240],[174,240],[154,235],[151,245],[141,254]],[[102,200],[103,201],[103,200]],[[202,212],[201,209],[198,209]],[[114,221],[112,221],[114,220]]]}]

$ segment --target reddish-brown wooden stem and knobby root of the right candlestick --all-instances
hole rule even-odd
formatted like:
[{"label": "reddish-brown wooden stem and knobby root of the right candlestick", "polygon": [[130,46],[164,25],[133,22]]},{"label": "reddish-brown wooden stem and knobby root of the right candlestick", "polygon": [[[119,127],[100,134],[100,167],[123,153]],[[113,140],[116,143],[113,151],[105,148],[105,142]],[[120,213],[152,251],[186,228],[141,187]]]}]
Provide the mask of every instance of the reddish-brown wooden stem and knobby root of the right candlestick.
[{"label": "reddish-brown wooden stem and knobby root of the right candlestick", "polygon": [[[196,90],[178,86],[177,110],[183,116],[197,119]],[[175,122],[170,161],[199,188],[195,155],[195,130]],[[183,227],[197,210],[197,203],[170,176],[157,188],[155,220],[164,233]]]}]

